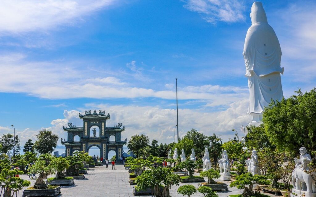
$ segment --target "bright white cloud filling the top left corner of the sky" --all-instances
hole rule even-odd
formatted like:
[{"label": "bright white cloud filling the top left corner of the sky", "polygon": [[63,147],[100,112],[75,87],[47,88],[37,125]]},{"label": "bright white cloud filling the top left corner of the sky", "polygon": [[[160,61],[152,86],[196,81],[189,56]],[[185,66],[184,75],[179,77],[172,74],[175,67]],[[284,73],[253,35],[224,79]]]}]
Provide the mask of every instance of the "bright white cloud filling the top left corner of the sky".
[{"label": "bright white cloud filling the top left corner of the sky", "polygon": [[0,32],[47,31],[60,25],[74,25],[83,17],[104,9],[115,0],[10,0],[0,6]]}]

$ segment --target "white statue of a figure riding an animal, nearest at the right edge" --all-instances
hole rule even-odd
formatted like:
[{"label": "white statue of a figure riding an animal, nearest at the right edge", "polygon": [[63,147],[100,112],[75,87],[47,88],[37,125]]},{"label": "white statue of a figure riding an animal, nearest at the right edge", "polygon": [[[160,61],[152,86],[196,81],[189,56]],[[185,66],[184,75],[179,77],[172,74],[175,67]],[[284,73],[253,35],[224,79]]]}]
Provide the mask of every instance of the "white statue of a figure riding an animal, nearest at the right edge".
[{"label": "white statue of a figure riding an animal, nearest at the right edge", "polygon": [[[292,193],[298,195],[305,193],[305,197],[315,197],[315,181],[306,172],[309,170],[308,164],[312,161],[312,158],[304,147],[300,148],[300,154],[300,159],[294,159],[295,169],[292,172],[292,184],[294,188],[292,189]],[[291,194],[292,196],[294,194]]]}]

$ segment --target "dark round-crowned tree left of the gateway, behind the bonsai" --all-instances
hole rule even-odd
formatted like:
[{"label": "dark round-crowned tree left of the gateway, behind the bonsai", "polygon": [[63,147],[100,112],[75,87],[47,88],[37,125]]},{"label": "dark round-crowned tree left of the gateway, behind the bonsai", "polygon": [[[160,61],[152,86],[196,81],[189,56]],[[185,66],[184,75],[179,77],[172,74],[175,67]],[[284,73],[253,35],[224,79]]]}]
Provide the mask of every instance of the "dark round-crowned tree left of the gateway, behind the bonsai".
[{"label": "dark round-crowned tree left of the gateway, behind the bonsai", "polygon": [[39,134],[35,135],[37,140],[34,143],[33,148],[40,154],[46,154],[54,151],[59,140],[58,135],[55,135],[50,130],[43,129]]}]

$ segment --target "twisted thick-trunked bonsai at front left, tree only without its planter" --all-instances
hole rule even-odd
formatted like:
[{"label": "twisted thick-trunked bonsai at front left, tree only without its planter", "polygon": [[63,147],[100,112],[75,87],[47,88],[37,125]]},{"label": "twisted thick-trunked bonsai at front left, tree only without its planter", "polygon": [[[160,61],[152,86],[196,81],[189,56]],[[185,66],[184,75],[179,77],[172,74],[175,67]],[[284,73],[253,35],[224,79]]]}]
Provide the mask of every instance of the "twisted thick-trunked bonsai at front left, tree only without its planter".
[{"label": "twisted thick-trunked bonsai at front left, tree only without its planter", "polygon": [[29,173],[39,174],[36,182],[34,183],[34,188],[36,189],[46,189],[47,185],[44,179],[49,175],[54,174],[56,169],[51,165],[53,156],[51,154],[42,154],[34,165],[28,168]]}]

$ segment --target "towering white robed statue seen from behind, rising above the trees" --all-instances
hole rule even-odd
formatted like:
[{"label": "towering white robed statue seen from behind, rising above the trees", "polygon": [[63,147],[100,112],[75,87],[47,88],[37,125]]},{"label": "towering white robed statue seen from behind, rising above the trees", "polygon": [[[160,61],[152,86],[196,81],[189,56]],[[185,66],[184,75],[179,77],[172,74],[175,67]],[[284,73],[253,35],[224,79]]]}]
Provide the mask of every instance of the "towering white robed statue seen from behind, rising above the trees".
[{"label": "towering white robed statue seen from behind, rising above the trees", "polygon": [[283,90],[281,84],[281,47],[276,33],[268,24],[267,16],[261,2],[251,7],[251,26],[245,39],[244,59],[249,87],[248,114],[250,125],[260,125],[264,107],[271,99],[281,101]]}]

